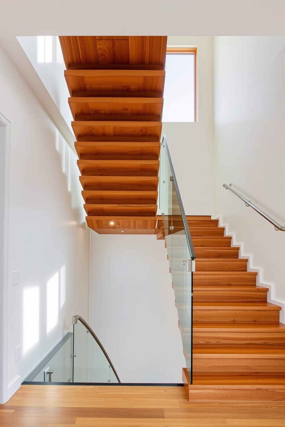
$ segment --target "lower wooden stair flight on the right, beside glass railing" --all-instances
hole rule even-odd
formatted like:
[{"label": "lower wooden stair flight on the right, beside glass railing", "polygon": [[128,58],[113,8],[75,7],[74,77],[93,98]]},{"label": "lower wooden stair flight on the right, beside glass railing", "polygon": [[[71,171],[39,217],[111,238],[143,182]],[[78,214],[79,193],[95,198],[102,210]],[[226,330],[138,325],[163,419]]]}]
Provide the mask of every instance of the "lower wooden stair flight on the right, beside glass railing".
[{"label": "lower wooden stair flight on the right, beside glass railing", "polygon": [[[285,325],[268,288],[210,216],[187,216],[195,253],[193,273],[193,384],[183,369],[189,401],[285,401]],[[157,238],[164,238],[162,219]],[[171,272],[172,275],[180,272]],[[186,310],[179,303],[177,310]],[[178,325],[183,342],[191,328]],[[185,357],[191,357],[184,349]]]}]

